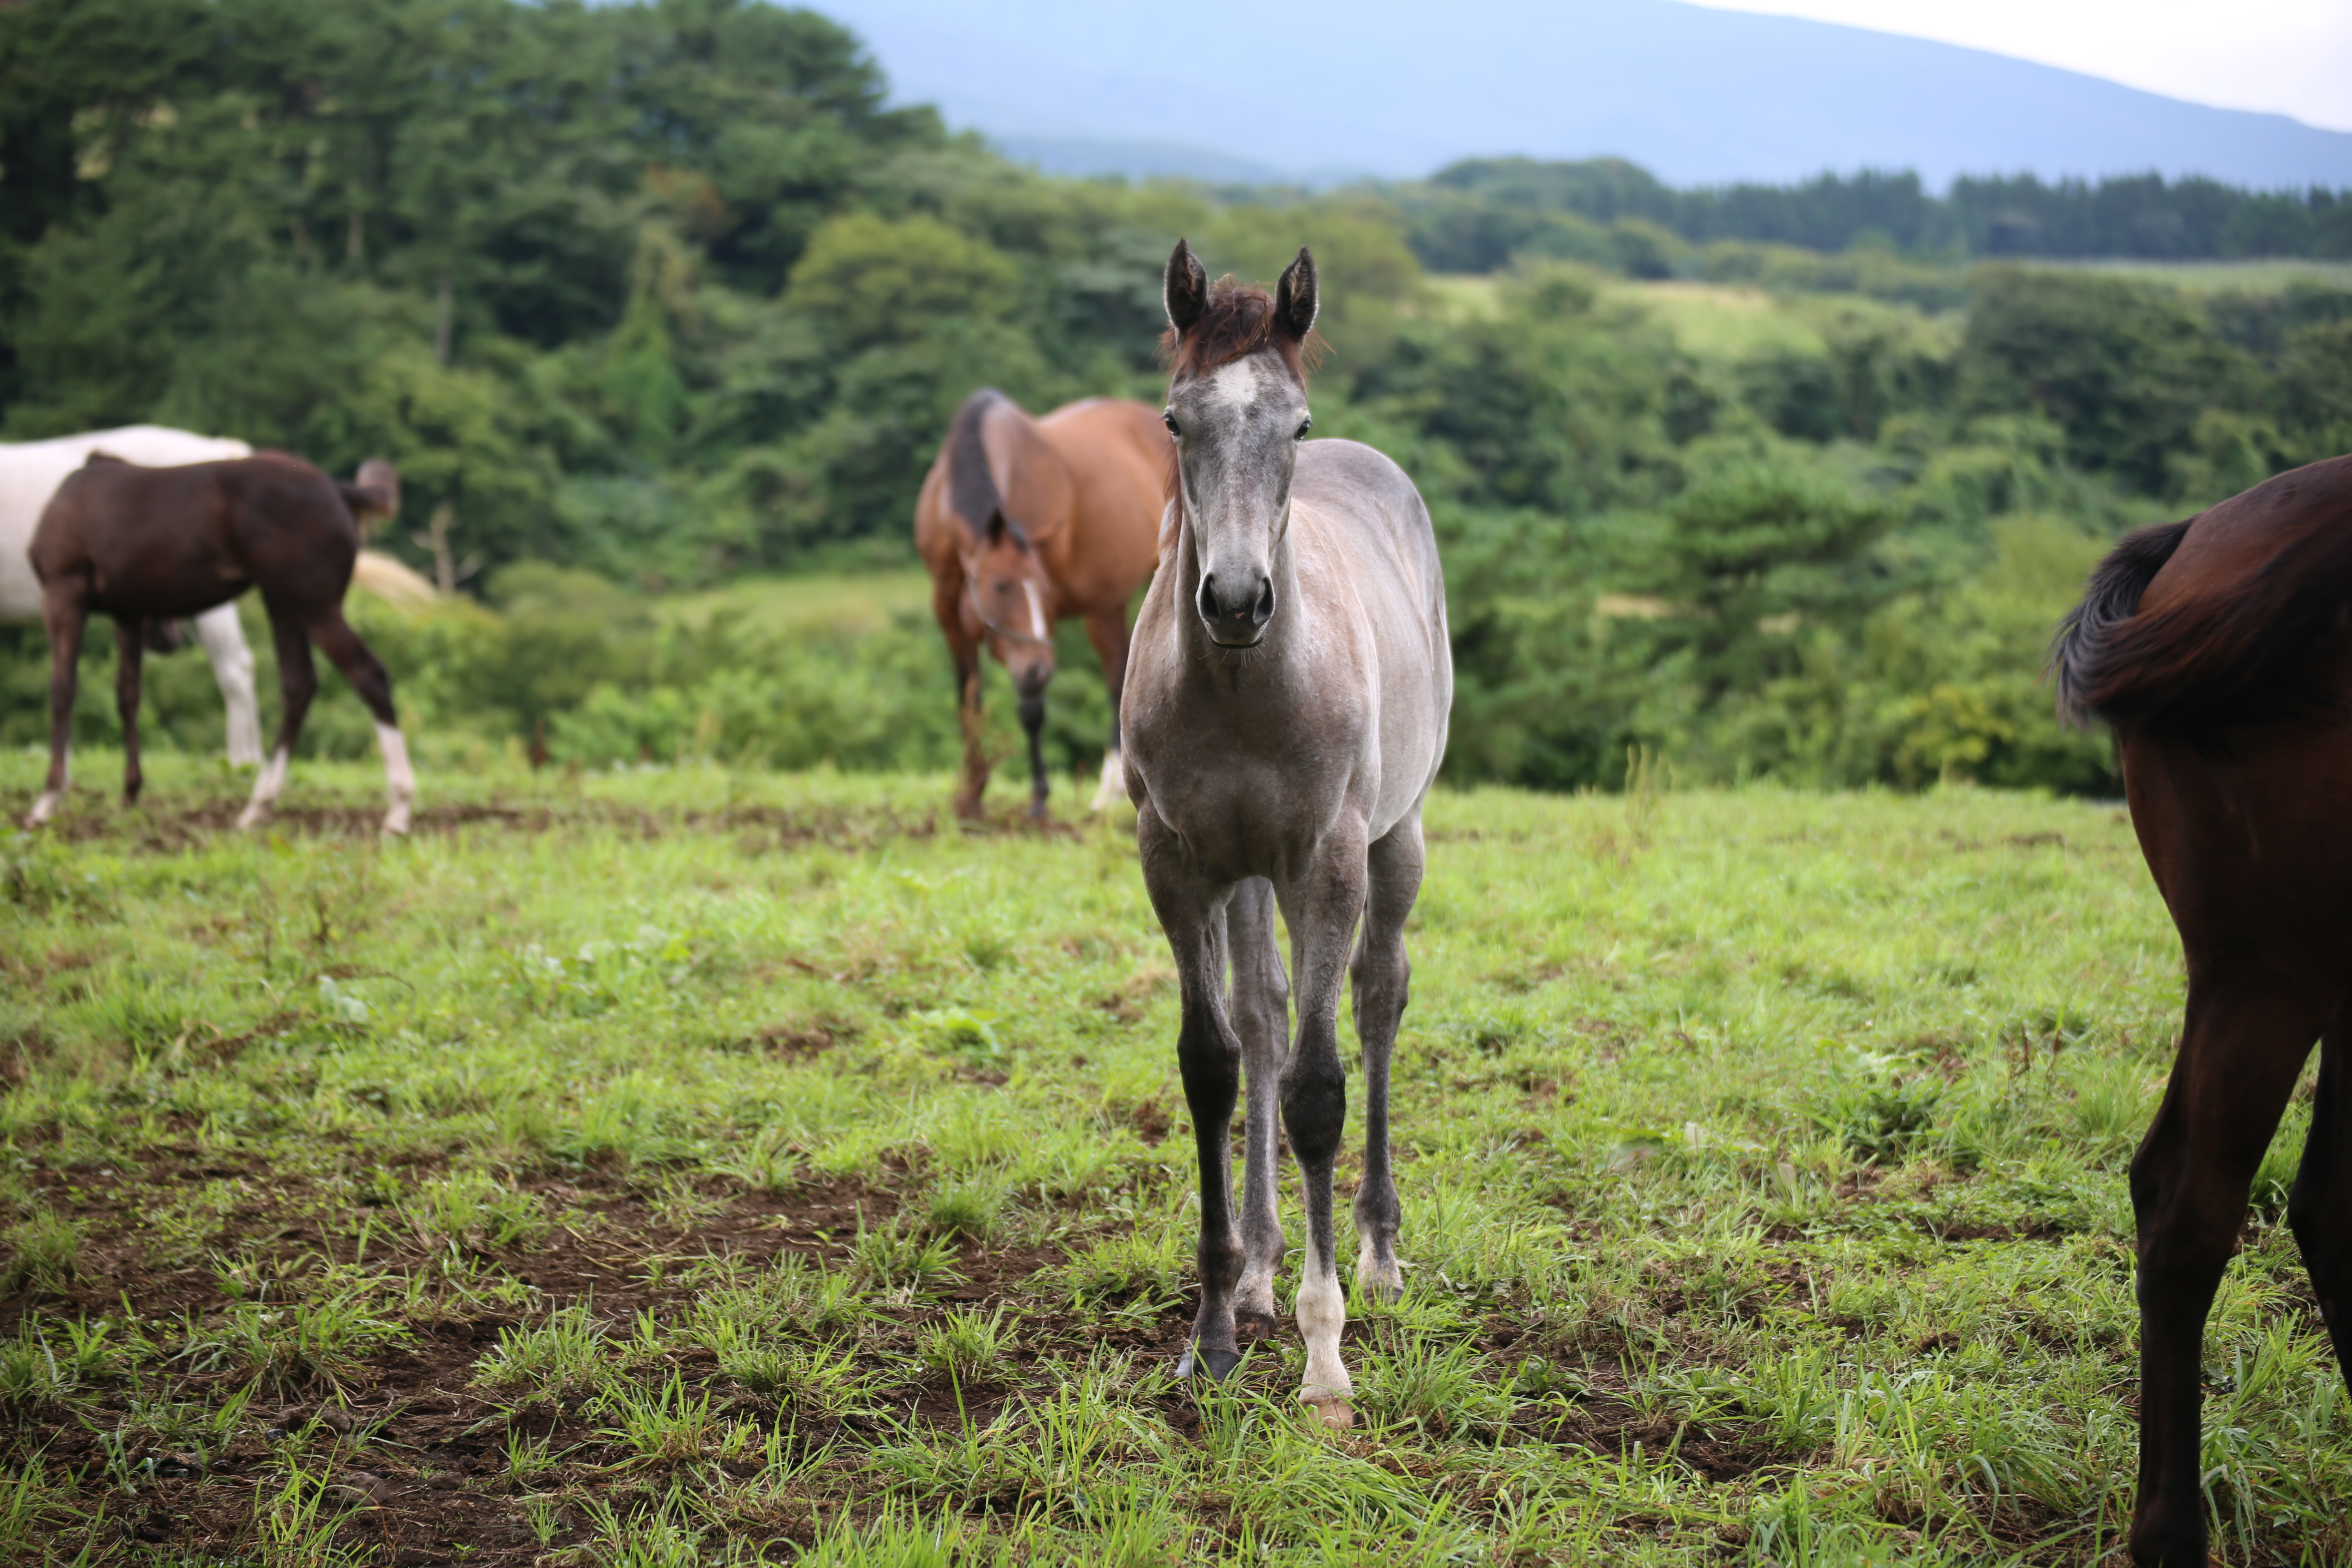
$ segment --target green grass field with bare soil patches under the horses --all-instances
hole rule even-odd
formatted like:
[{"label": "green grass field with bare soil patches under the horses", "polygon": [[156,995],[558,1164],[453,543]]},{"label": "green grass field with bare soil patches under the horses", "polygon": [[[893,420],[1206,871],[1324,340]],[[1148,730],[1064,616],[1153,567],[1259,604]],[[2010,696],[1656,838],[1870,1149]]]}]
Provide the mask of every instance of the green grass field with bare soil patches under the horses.
[{"label": "green grass field with bare soil patches under the horses", "polygon": [[[2180,1006],[2114,806],[1432,799],[1409,1293],[1352,1302],[1329,1434],[1296,1342],[1169,1380],[1195,1175],[1122,825],[517,769],[379,844],[369,766],[259,835],[155,776],[122,811],[85,755],[0,837],[0,1559],[2114,1552]],[[2206,1356],[2230,1563],[2352,1556],[2300,1114]]]}]

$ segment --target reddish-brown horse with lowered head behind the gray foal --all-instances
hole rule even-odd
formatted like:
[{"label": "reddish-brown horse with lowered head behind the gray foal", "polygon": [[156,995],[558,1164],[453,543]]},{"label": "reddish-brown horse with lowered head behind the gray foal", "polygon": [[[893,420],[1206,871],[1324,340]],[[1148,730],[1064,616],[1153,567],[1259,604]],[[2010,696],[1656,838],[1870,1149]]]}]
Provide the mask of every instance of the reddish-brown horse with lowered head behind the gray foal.
[{"label": "reddish-brown horse with lowered head behind the gray foal", "polygon": [[955,811],[981,813],[981,646],[1021,701],[1030,743],[1030,816],[1044,816],[1044,689],[1054,623],[1080,616],[1110,684],[1110,755],[1094,797],[1122,795],[1120,686],[1127,602],[1160,557],[1160,512],[1174,447],[1160,411],[1089,397],[1030,418],[995,388],[964,400],[915,501],[915,550],[931,569],[931,614],[955,656],[964,780]]}]

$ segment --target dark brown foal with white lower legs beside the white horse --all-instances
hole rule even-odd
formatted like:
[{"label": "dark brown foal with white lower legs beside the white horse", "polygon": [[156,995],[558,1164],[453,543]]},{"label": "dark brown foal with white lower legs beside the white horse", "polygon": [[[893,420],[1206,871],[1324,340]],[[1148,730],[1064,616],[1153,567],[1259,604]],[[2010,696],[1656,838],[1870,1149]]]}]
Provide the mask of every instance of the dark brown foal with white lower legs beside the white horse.
[{"label": "dark brown foal with white lower legs beside the white horse", "polygon": [[416,776],[393,717],[393,682],[343,621],[343,590],[360,555],[353,512],[388,517],[397,508],[400,477],[381,458],[360,468],[358,484],[336,484],[282,451],[181,468],[139,468],[94,454],[49,498],[26,548],[49,628],[49,778],[26,825],[45,823],[66,792],[75,665],[89,616],[115,621],[122,799],[134,802],[141,785],[139,658],[146,628],[261,588],[278,642],[285,715],[278,748],[238,825],[259,823],[285,788],[294,741],[318,691],[310,665],[310,644],[318,642],[376,715],[393,797],[383,830],[407,832]]}]

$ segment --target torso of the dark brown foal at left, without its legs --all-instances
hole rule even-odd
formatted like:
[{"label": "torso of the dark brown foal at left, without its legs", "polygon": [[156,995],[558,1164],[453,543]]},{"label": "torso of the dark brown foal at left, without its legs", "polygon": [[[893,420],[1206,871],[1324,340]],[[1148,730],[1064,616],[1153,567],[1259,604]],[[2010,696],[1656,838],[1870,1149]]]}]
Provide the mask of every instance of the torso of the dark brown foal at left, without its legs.
[{"label": "torso of the dark brown foal at left, without its legs", "polygon": [[26,552],[42,583],[80,576],[94,614],[193,616],[256,571],[339,602],[360,529],[341,487],[285,454],[179,468],[101,456],[56,489]]}]

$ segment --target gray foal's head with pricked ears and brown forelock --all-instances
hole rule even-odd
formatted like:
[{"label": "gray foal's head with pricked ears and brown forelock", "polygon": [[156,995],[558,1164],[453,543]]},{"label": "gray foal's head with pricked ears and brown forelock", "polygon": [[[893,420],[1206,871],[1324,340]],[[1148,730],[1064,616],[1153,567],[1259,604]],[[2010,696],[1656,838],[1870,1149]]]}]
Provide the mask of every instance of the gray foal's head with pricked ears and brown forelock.
[{"label": "gray foal's head with pricked ears and brown forelock", "polygon": [[1268,296],[1230,277],[1211,284],[1178,240],[1164,296],[1176,501],[1200,567],[1192,609],[1218,646],[1247,649],[1277,609],[1275,550],[1291,522],[1298,442],[1315,423],[1305,381],[1315,259],[1301,247]]}]

